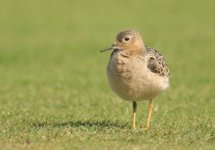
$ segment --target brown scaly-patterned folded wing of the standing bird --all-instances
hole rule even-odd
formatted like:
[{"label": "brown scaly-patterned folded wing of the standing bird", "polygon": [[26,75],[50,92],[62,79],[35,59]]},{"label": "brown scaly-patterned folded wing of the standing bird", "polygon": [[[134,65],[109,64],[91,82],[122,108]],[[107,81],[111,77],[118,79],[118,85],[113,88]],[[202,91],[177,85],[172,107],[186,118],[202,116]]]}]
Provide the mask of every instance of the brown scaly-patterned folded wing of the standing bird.
[{"label": "brown scaly-patterned folded wing of the standing bird", "polygon": [[151,47],[146,47],[146,51],[149,55],[147,64],[149,70],[159,76],[168,76],[170,73],[164,57],[157,50]]}]

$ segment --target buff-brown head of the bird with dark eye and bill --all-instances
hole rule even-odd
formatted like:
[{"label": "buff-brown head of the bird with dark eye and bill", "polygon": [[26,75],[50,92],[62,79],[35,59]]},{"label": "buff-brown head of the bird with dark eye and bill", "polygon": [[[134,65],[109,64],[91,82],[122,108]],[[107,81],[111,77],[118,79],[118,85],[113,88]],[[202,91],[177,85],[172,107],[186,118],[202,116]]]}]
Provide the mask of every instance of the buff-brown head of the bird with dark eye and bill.
[{"label": "buff-brown head of the bird with dark eye and bill", "polygon": [[101,52],[107,50],[129,50],[129,51],[140,51],[144,49],[144,42],[141,35],[137,31],[128,30],[122,31],[117,34],[116,41],[111,46],[104,48]]}]

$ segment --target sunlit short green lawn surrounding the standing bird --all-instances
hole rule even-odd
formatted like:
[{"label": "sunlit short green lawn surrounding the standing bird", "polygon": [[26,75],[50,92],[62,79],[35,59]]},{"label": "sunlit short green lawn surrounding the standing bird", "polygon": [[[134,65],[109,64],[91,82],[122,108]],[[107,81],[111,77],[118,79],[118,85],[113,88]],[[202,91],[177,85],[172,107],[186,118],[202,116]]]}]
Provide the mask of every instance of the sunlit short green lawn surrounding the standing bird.
[{"label": "sunlit short green lawn surrounding the standing bird", "polygon": [[[215,2],[0,2],[0,149],[214,149]],[[131,102],[109,88],[110,52],[124,29],[141,32],[171,71],[155,100]]]}]

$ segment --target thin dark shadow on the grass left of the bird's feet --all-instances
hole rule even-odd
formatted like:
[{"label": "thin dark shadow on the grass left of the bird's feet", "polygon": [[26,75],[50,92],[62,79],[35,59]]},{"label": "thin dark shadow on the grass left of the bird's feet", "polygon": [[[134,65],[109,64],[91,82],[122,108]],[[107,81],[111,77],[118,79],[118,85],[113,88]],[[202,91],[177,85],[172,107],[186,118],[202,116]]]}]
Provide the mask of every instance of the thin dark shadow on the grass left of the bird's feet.
[{"label": "thin dark shadow on the grass left of the bird's feet", "polygon": [[33,123],[34,127],[44,128],[44,127],[73,127],[73,128],[128,128],[127,124],[119,121],[111,120],[76,120],[76,121],[66,121],[66,122],[36,122]]}]

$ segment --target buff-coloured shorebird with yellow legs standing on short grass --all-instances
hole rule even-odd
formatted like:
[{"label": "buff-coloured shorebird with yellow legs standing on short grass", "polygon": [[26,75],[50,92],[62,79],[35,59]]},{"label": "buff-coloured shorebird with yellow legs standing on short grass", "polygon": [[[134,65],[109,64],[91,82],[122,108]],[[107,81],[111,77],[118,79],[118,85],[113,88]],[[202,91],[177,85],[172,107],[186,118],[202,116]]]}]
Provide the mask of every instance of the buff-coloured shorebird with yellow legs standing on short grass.
[{"label": "buff-coloured shorebird with yellow legs standing on short grass", "polygon": [[150,128],[153,100],[169,87],[167,63],[159,51],[145,45],[136,30],[125,30],[117,34],[110,46],[101,50],[112,50],[106,74],[114,93],[133,106],[132,128],[136,128],[137,102],[149,101],[146,130]]}]

